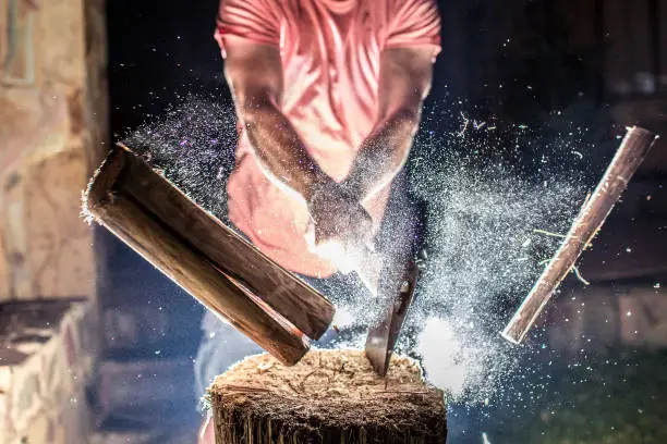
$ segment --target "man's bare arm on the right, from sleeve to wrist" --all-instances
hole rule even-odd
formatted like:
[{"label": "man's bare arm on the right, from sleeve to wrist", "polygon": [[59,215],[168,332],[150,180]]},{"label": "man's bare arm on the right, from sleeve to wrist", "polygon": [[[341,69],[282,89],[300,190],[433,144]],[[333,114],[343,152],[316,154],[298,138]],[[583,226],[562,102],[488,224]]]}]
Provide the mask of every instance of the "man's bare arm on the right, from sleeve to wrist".
[{"label": "man's bare arm on the right, from sleeve to wrist", "polygon": [[377,123],[341,184],[359,201],[390,183],[403,168],[430,88],[432,59],[429,47],[390,48],[383,52]]}]

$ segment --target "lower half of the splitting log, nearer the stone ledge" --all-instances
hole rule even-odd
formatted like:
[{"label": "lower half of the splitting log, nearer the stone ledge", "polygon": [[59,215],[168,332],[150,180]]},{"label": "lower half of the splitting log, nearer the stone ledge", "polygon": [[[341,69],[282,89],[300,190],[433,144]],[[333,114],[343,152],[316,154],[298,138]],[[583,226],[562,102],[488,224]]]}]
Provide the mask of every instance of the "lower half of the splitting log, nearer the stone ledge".
[{"label": "lower half of the splitting log, nearer the stone ledge", "polygon": [[120,149],[107,158],[88,189],[87,210],[183,289],[281,362],[298,362],[308,349],[300,332],[247,297],[207,257],[116,186],[126,174],[124,166],[130,158]]}]

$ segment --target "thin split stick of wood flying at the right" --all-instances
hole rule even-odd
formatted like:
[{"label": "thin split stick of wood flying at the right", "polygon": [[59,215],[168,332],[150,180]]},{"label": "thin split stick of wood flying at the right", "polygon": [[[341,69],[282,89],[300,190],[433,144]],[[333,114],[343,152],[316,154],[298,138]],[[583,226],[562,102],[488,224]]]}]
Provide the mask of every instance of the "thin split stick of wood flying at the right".
[{"label": "thin split stick of wood flying at the right", "polygon": [[584,202],[549,264],[502,331],[502,337],[514,344],[523,340],[562,279],[599,231],[656,138],[655,134],[636,126],[628,130],[597,187]]}]

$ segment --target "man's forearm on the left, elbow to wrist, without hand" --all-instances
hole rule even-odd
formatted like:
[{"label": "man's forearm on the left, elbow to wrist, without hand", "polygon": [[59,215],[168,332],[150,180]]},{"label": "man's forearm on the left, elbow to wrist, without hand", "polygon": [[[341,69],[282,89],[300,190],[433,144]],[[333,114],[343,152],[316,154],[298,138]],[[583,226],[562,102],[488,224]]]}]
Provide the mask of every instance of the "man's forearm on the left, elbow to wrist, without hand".
[{"label": "man's forearm on the left, elbow to wrist, without hand", "polygon": [[314,185],[327,176],[308,156],[287,118],[270,102],[245,110],[241,116],[265,173],[277,185],[308,201]]}]

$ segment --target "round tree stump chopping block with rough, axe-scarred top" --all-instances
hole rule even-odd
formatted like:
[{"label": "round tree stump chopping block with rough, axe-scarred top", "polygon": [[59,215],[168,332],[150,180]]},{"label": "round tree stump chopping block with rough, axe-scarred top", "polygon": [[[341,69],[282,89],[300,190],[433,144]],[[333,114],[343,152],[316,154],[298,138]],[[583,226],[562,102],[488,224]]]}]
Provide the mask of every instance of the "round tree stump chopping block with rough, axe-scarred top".
[{"label": "round tree stump chopping block with rough, axe-scarred top", "polygon": [[444,393],[395,356],[386,378],[362,350],[311,350],[293,367],[246,358],[208,390],[216,444],[445,444]]}]

